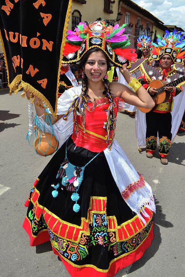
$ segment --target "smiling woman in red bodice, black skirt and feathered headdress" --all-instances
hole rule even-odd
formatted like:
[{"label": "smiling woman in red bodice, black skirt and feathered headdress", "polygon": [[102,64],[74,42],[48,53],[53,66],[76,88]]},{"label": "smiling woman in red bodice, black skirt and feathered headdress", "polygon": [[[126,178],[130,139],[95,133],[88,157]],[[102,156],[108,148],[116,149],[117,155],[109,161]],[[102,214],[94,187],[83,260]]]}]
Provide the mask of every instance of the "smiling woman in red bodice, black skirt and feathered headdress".
[{"label": "smiling woman in red bodice, black skirt and feathered headdress", "polygon": [[[75,277],[114,276],[138,260],[153,239],[151,188],[114,139],[119,101],[153,107],[153,100],[124,65],[124,28],[95,25],[80,23],[75,32],[68,31],[63,62],[80,61],[84,78],[59,98],[58,121],[52,125],[59,149],[34,183],[23,223],[30,244],[51,240],[53,252]],[[109,84],[110,62],[122,66],[136,93],[117,82]],[[48,115],[38,105],[35,109],[48,131]],[[65,178],[51,186],[62,168]],[[69,186],[72,177],[78,180],[75,191]]]}]

